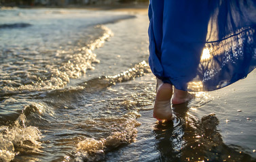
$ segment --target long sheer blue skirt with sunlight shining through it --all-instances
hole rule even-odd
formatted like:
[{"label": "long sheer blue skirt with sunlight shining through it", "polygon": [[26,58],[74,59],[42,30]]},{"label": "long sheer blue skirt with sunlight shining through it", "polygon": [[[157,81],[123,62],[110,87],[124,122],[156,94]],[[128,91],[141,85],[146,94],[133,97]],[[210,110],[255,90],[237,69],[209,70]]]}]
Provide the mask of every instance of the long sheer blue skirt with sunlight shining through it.
[{"label": "long sheer blue skirt with sunlight shining through it", "polygon": [[256,67],[255,0],[150,0],[149,65],[177,89],[216,90]]}]

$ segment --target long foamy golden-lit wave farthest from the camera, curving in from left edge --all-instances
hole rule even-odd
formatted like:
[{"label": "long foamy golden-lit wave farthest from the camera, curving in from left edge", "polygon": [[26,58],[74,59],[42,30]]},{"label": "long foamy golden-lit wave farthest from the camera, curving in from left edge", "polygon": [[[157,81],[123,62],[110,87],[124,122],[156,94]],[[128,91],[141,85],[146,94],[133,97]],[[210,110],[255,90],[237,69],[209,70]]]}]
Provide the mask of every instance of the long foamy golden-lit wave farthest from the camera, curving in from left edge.
[{"label": "long foamy golden-lit wave farthest from the camera, curving in from left edge", "polygon": [[[71,78],[79,78],[86,74],[86,70],[93,70],[92,63],[99,63],[99,60],[92,51],[101,47],[113,33],[105,26],[94,26],[91,30],[100,35],[92,38],[83,47],[79,47],[81,43],[77,42],[76,47],[67,46],[67,49],[59,49],[54,53],[53,58],[49,58],[50,60],[41,57],[37,59],[39,53],[36,52],[32,57],[31,53],[28,53],[29,58],[24,56],[26,54],[22,55],[31,63],[24,63],[24,61],[16,61],[16,65],[3,63],[4,73],[0,78],[0,94],[20,94],[62,88],[70,82]],[[15,54],[14,51],[8,50],[6,53]],[[51,62],[54,60],[58,62]],[[38,63],[40,65],[35,65]],[[31,66],[31,68],[20,70],[22,65]]]}]

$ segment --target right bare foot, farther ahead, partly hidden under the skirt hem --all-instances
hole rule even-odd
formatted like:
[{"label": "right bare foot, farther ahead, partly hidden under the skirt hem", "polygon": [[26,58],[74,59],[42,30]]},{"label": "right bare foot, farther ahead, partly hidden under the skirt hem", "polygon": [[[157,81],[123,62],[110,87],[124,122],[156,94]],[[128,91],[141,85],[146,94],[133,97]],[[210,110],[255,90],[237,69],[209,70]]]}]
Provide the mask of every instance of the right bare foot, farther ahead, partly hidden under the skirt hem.
[{"label": "right bare foot, farther ahead, partly hidden under the skirt hem", "polygon": [[190,94],[184,90],[178,90],[174,88],[173,96],[172,96],[172,105],[177,105],[181,103],[185,103],[194,98],[194,95]]}]

